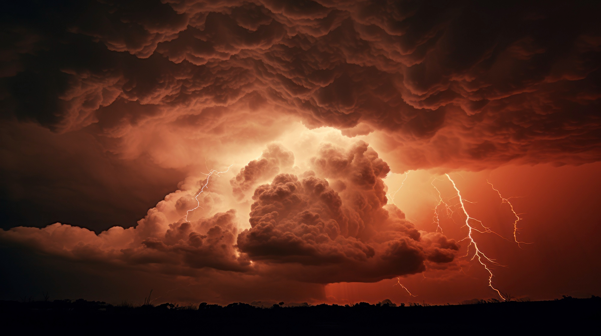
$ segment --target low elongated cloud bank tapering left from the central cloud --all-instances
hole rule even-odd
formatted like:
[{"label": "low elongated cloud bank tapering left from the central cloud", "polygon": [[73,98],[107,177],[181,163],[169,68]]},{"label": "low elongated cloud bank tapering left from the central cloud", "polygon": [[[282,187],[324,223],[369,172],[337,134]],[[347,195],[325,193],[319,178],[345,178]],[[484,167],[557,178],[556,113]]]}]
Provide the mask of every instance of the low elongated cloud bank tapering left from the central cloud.
[{"label": "low elongated cloud bank tapering left from the central cloud", "polygon": [[136,228],[114,226],[99,235],[81,227],[55,223],[38,229],[16,227],[2,233],[4,241],[20,242],[44,253],[85,262],[145,266],[148,271],[191,274],[190,269],[224,271],[248,269],[236,256],[234,211],[202,218],[195,223],[165,223],[165,215],[151,209]]}]

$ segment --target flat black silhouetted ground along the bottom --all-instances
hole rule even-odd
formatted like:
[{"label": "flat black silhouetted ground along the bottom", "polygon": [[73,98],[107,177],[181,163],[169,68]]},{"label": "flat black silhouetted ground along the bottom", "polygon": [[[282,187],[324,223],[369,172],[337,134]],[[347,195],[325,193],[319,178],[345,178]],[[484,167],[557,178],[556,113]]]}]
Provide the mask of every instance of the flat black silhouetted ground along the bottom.
[{"label": "flat black silhouetted ground along the bottom", "polygon": [[2,330],[13,330],[9,334],[597,334],[601,298],[426,307],[362,302],[350,307],[323,304],[272,308],[248,304],[123,307],[83,299],[0,301],[0,316]]}]

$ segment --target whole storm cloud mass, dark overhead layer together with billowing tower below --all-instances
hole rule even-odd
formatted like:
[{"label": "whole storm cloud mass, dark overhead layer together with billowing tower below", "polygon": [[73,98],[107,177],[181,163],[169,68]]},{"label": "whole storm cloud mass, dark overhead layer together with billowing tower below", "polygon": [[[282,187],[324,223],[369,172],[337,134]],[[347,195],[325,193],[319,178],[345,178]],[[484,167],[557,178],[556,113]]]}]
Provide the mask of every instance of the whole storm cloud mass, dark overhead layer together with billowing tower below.
[{"label": "whole storm cloud mass, dark overhead layer together with billowing tower below", "polygon": [[255,284],[453,268],[383,179],[601,160],[599,6],[11,2],[0,239]]}]

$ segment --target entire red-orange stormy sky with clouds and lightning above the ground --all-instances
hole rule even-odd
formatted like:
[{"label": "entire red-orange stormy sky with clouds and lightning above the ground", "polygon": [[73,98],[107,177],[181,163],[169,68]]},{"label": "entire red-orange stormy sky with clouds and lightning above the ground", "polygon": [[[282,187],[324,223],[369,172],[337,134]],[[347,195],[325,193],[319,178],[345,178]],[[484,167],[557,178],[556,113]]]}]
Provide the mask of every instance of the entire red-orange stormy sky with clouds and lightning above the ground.
[{"label": "entire red-orange stormy sky with clouds and lightning above the ground", "polygon": [[0,298],[598,295],[598,13],[11,4]]}]

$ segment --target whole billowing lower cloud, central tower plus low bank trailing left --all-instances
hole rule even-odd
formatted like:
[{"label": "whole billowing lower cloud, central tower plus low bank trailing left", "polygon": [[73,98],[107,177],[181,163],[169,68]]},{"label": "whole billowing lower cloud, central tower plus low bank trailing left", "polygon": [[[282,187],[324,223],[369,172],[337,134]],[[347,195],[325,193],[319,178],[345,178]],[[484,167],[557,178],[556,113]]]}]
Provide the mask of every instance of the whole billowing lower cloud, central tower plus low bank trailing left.
[{"label": "whole billowing lower cloud, central tower plus low bank trailing left", "polygon": [[[269,145],[260,160],[280,157],[291,170],[294,155]],[[0,233],[5,241],[29,245],[68,259],[112,263],[190,275],[198,269],[266,275],[329,283],[378,281],[426,269],[428,263],[453,262],[459,245],[439,233],[419,232],[396,206],[386,205],[382,178],[388,165],[367,143],[350,149],[326,143],[311,159],[314,171],[296,176],[282,172],[254,190],[250,229],[230,209],[184,220],[191,199],[207,181],[165,197],[138,226],[95,233],[66,224],[43,229],[15,227]],[[214,177],[215,178],[215,177]],[[329,186],[328,179],[339,191]],[[237,178],[232,181],[239,181]],[[250,181],[246,179],[245,181]],[[216,198],[201,194],[202,210],[219,211]],[[441,267],[441,266],[438,266]]]}]

